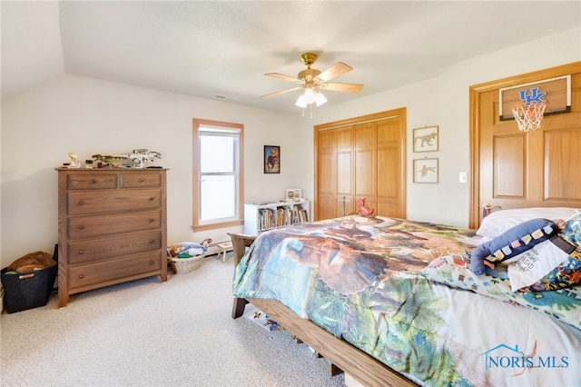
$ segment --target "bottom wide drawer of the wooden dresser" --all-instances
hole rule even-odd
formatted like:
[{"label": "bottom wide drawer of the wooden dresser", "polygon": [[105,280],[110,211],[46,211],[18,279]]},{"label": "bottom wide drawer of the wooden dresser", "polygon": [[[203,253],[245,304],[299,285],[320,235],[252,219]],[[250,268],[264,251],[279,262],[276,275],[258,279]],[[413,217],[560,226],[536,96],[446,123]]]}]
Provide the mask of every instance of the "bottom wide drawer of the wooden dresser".
[{"label": "bottom wide drawer of the wooden dresser", "polygon": [[94,287],[121,283],[159,273],[162,269],[162,253],[143,253],[120,259],[88,263],[69,267],[69,286],[71,293],[83,292]]}]

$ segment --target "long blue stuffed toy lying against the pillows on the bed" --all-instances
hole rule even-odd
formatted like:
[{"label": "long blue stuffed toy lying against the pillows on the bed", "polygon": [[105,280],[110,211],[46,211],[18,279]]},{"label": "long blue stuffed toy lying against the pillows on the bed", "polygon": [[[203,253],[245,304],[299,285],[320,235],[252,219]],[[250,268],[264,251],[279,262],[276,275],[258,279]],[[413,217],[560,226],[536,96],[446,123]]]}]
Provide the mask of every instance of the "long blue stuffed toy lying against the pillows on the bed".
[{"label": "long blue stuffed toy lying against the pillows on the bed", "polygon": [[485,265],[494,269],[494,264],[517,256],[537,243],[546,241],[559,232],[559,226],[547,219],[531,219],[508,229],[491,241],[479,244],[470,255],[472,273],[484,274]]}]

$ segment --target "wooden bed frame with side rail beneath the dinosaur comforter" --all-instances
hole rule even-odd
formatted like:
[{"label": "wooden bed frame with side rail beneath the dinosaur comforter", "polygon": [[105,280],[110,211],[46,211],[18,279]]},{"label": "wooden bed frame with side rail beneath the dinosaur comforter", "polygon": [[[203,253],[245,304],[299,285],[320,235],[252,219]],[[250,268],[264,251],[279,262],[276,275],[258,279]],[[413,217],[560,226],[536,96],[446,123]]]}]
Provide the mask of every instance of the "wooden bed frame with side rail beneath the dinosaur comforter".
[{"label": "wooden bed frame with side rail beneath the dinosaur comforter", "polygon": [[[234,267],[238,265],[246,247],[250,247],[255,236],[241,233],[230,233],[234,251]],[[355,348],[349,342],[340,340],[330,332],[303,319],[276,300],[234,298],[232,318],[241,317],[244,307],[251,303],[268,314],[284,329],[306,342],[321,356],[333,362],[343,372],[347,372],[365,386],[416,386],[403,375],[391,370],[387,365],[379,362],[369,354]]]}]

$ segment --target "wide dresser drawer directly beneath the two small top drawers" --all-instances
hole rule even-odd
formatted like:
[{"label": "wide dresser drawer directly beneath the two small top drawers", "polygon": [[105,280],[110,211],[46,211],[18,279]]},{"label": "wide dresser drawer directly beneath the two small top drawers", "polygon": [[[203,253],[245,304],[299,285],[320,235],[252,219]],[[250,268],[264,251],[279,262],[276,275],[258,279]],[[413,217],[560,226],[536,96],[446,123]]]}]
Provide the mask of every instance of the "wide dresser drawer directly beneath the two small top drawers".
[{"label": "wide dresser drawer directly beneath the two small top drawers", "polygon": [[117,190],[68,193],[69,215],[147,210],[162,205],[161,190]]}]

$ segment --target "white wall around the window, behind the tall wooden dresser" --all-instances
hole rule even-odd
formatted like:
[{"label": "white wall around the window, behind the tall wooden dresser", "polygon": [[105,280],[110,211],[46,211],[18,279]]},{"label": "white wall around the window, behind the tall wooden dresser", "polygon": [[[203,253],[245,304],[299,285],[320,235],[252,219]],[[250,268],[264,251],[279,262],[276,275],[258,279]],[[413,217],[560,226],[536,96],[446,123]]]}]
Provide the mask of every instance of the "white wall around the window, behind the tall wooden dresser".
[{"label": "white wall around the window, behind the tall wooden dresser", "polygon": [[[244,124],[245,199],[283,199],[300,188],[304,152],[293,135],[298,116],[180,94],[63,75],[2,104],[2,265],[57,242],[55,167],[74,152],[147,148],[168,172],[168,242],[228,239],[219,230],[192,233],[192,118]],[[281,145],[281,174],[263,174],[263,145]],[[241,228],[232,231],[241,232]]]}]

